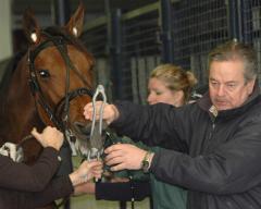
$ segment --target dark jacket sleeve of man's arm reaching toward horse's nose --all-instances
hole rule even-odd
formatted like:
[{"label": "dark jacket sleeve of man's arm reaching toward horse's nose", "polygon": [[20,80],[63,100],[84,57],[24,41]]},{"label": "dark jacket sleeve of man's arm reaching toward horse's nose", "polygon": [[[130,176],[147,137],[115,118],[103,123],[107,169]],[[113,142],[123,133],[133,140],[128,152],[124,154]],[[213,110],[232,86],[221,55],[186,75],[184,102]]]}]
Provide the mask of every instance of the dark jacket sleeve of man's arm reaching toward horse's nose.
[{"label": "dark jacket sleeve of man's arm reaching toward horse's nose", "polygon": [[176,108],[165,103],[139,106],[130,102],[115,103],[120,118],[111,124],[117,134],[148,146],[186,150],[186,143],[178,135]]}]

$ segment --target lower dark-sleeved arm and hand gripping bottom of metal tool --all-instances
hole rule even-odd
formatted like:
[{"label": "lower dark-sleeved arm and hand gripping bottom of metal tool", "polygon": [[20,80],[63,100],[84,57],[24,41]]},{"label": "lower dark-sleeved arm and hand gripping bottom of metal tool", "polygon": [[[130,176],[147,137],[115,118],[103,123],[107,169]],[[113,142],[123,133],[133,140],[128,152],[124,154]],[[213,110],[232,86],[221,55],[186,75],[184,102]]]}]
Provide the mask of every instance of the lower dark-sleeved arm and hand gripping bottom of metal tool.
[{"label": "lower dark-sleeved arm and hand gripping bottom of metal tool", "polygon": [[53,179],[41,192],[24,192],[0,187],[0,208],[36,208],[51,201],[67,197],[78,184],[100,177],[102,173],[101,161],[85,161],[70,175]]}]

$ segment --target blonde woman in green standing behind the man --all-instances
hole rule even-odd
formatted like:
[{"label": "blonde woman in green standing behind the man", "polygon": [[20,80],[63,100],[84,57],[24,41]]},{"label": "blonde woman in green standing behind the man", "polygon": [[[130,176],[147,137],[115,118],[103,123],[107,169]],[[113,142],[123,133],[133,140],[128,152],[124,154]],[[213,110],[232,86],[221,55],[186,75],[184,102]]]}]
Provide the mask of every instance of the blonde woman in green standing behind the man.
[{"label": "blonde woman in green standing behind the man", "polygon": [[[189,101],[196,83],[197,79],[189,71],[185,72],[172,64],[160,65],[150,75],[148,103],[184,106]],[[153,147],[152,149],[157,151],[162,148]],[[187,190],[185,188],[158,181],[153,174],[150,174],[150,185],[154,209],[186,208]]]}]

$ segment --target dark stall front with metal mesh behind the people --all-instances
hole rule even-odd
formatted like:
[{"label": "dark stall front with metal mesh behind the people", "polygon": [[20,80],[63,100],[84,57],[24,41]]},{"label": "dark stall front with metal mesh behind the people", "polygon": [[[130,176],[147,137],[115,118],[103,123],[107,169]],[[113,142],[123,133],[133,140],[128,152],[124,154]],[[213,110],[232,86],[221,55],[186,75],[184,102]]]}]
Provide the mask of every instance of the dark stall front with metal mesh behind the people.
[{"label": "dark stall front with metal mesh behind the people", "polygon": [[149,73],[159,63],[191,70],[206,84],[209,51],[233,38],[252,44],[261,63],[260,0],[160,0],[125,13],[111,10],[87,25],[83,39],[113,100],[145,103]]}]

